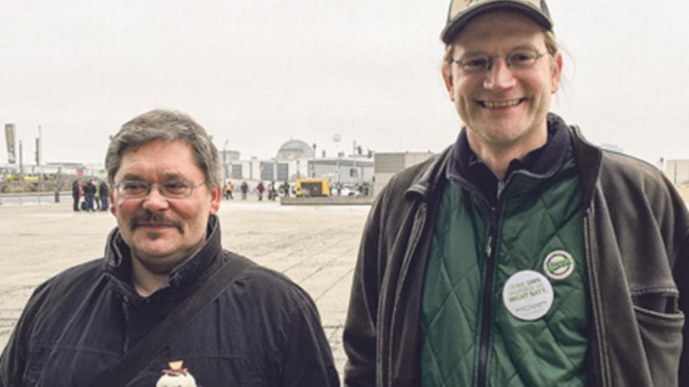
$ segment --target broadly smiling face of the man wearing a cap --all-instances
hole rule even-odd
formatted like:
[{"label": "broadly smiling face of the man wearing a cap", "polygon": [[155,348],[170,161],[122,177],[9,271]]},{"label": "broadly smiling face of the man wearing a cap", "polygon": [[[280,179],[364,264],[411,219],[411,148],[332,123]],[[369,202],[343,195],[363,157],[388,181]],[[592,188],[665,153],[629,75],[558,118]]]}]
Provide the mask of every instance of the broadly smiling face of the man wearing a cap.
[{"label": "broadly smiling face of the man wearing a cap", "polygon": [[[531,68],[508,67],[504,58],[515,50],[545,53]],[[545,34],[528,17],[489,11],[471,20],[452,43],[452,57],[485,54],[489,71],[466,73],[458,64],[445,66],[443,78],[468,140],[477,147],[521,149],[526,154],[542,145],[550,107],[557,91],[562,57],[547,53]],[[523,149],[522,149],[523,148]]]}]

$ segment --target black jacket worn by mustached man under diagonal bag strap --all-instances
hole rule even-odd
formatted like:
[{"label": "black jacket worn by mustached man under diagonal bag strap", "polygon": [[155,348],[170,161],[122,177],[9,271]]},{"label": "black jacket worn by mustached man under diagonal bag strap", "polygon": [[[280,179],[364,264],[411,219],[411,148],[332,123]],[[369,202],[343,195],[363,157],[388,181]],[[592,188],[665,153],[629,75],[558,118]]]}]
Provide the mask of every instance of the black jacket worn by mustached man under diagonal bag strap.
[{"label": "black jacket worn by mustached man under diagonal bag strap", "polygon": [[[90,386],[123,353],[235,254],[221,247],[216,217],[200,251],[142,298],[130,284],[130,252],[117,229],[105,258],[36,289],[0,358],[0,386]],[[197,384],[339,386],[311,298],[277,272],[247,269],[127,386],[155,386],[183,360]]]}]

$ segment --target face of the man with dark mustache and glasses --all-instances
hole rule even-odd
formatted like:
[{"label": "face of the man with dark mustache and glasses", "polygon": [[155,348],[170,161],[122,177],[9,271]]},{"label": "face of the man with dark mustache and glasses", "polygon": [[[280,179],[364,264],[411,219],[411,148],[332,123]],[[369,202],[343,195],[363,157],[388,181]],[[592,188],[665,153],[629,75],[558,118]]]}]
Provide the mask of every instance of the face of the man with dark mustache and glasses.
[{"label": "face of the man with dark mustache and glasses", "polygon": [[204,182],[188,144],[154,140],[127,150],[113,180],[116,184],[123,180],[153,184],[144,198],[123,198],[117,190],[110,194],[111,211],[132,258],[148,272],[167,274],[202,246],[209,214],[220,207],[220,187],[209,189],[202,184],[181,199],[165,198],[158,191],[158,184],[165,182]]}]

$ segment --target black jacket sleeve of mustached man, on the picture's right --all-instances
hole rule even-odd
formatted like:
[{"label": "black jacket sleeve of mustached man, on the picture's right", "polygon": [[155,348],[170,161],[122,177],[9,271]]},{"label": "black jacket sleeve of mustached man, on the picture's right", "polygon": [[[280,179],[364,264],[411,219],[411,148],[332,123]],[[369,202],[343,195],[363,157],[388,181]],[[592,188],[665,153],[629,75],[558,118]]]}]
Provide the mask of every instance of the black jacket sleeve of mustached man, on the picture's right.
[{"label": "black jacket sleeve of mustached man, on the picture's right", "polygon": [[318,310],[301,289],[298,289],[298,305],[291,312],[287,345],[282,386],[340,387]]}]

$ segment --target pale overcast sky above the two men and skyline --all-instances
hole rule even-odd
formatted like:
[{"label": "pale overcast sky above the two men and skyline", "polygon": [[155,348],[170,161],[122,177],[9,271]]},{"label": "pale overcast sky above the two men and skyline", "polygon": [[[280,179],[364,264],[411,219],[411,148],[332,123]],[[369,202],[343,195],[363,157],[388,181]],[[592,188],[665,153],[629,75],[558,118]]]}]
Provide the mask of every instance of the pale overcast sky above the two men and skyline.
[{"label": "pale overcast sky above the two men and skyline", "polygon": [[[33,163],[102,162],[108,135],[152,108],[216,145],[268,158],[443,149],[459,118],[440,77],[448,0],[0,0],[0,122]],[[689,157],[689,8],[681,0],[550,0],[564,57],[552,110],[593,143],[655,163]],[[339,133],[342,141],[333,142]],[[7,162],[4,130],[0,164]]]}]

